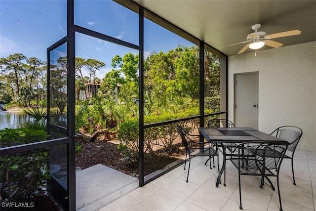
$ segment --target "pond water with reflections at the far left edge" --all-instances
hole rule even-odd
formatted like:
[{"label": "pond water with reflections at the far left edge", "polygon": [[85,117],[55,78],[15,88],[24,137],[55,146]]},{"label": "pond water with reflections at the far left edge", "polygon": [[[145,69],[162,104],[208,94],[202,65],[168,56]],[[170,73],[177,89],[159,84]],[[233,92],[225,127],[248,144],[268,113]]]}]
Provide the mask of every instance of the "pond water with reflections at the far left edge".
[{"label": "pond water with reflections at the far left edge", "polygon": [[20,128],[24,123],[32,120],[33,118],[23,112],[0,111],[0,129]]}]

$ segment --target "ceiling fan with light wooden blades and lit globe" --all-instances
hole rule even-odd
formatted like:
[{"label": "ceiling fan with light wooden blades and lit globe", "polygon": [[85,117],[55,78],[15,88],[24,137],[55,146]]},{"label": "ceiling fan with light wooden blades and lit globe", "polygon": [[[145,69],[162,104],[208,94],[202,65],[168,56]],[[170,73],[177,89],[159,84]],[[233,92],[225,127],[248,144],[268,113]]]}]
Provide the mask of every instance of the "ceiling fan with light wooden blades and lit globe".
[{"label": "ceiling fan with light wooden blades and lit globe", "polygon": [[247,36],[247,41],[238,42],[238,43],[231,44],[225,47],[230,47],[236,44],[249,42],[243,48],[241,48],[241,50],[239,50],[237,54],[245,52],[248,49],[248,47],[251,49],[258,50],[259,48],[263,47],[265,44],[271,47],[281,47],[283,43],[272,41],[271,39],[301,34],[301,31],[296,29],[292,31],[279,32],[276,34],[267,35],[266,32],[258,32],[258,29],[260,29],[260,27],[261,27],[260,24],[255,24],[251,27],[251,29],[254,30],[255,32]]}]

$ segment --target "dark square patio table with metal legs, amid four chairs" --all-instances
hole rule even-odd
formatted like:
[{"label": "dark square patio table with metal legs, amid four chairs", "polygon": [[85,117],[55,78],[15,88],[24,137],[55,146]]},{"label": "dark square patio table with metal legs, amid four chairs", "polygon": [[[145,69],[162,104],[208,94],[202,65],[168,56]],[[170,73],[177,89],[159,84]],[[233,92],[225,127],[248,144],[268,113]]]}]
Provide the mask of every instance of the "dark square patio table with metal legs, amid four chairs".
[{"label": "dark square patio table with metal legs, amid four chairs", "polygon": [[[287,141],[267,134],[265,132],[261,132],[251,127],[199,127],[200,133],[204,136],[204,138],[210,143],[217,143],[223,149],[223,166],[218,173],[216,187],[218,187],[220,183],[220,179],[223,171],[225,170],[226,163],[226,149],[224,143],[244,143],[244,142],[273,142],[278,145],[287,145],[289,144]],[[224,183],[224,186],[225,183]]]}]

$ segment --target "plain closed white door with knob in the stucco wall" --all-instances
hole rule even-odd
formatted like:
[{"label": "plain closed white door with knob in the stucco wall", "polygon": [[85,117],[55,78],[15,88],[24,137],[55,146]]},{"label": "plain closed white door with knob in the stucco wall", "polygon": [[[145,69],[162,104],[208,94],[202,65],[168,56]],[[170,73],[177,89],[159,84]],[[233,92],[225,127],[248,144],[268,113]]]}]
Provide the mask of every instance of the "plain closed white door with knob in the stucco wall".
[{"label": "plain closed white door with knob in the stucco wall", "polygon": [[234,74],[235,127],[258,128],[258,72]]}]

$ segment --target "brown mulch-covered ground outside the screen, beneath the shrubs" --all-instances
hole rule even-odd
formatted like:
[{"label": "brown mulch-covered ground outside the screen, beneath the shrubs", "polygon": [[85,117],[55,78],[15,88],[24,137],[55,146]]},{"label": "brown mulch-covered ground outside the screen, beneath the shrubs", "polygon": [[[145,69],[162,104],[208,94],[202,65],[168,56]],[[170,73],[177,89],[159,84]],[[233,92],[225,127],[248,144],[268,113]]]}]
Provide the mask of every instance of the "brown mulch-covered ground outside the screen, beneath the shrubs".
[{"label": "brown mulch-covered ground outside the screen, beneath the shrubs", "polygon": [[[89,142],[88,138],[80,141],[81,152],[76,155],[76,169],[82,170],[97,164],[116,169],[125,174],[138,177],[138,163],[131,163],[124,158],[124,152],[118,149],[119,141],[116,139],[105,140],[100,137],[95,142]],[[155,170],[161,169],[166,165],[185,156],[185,149],[180,140],[176,141],[175,150],[168,152],[159,149],[155,152],[155,160],[145,159],[144,174],[147,175]],[[146,157],[146,155],[145,155]]]}]

